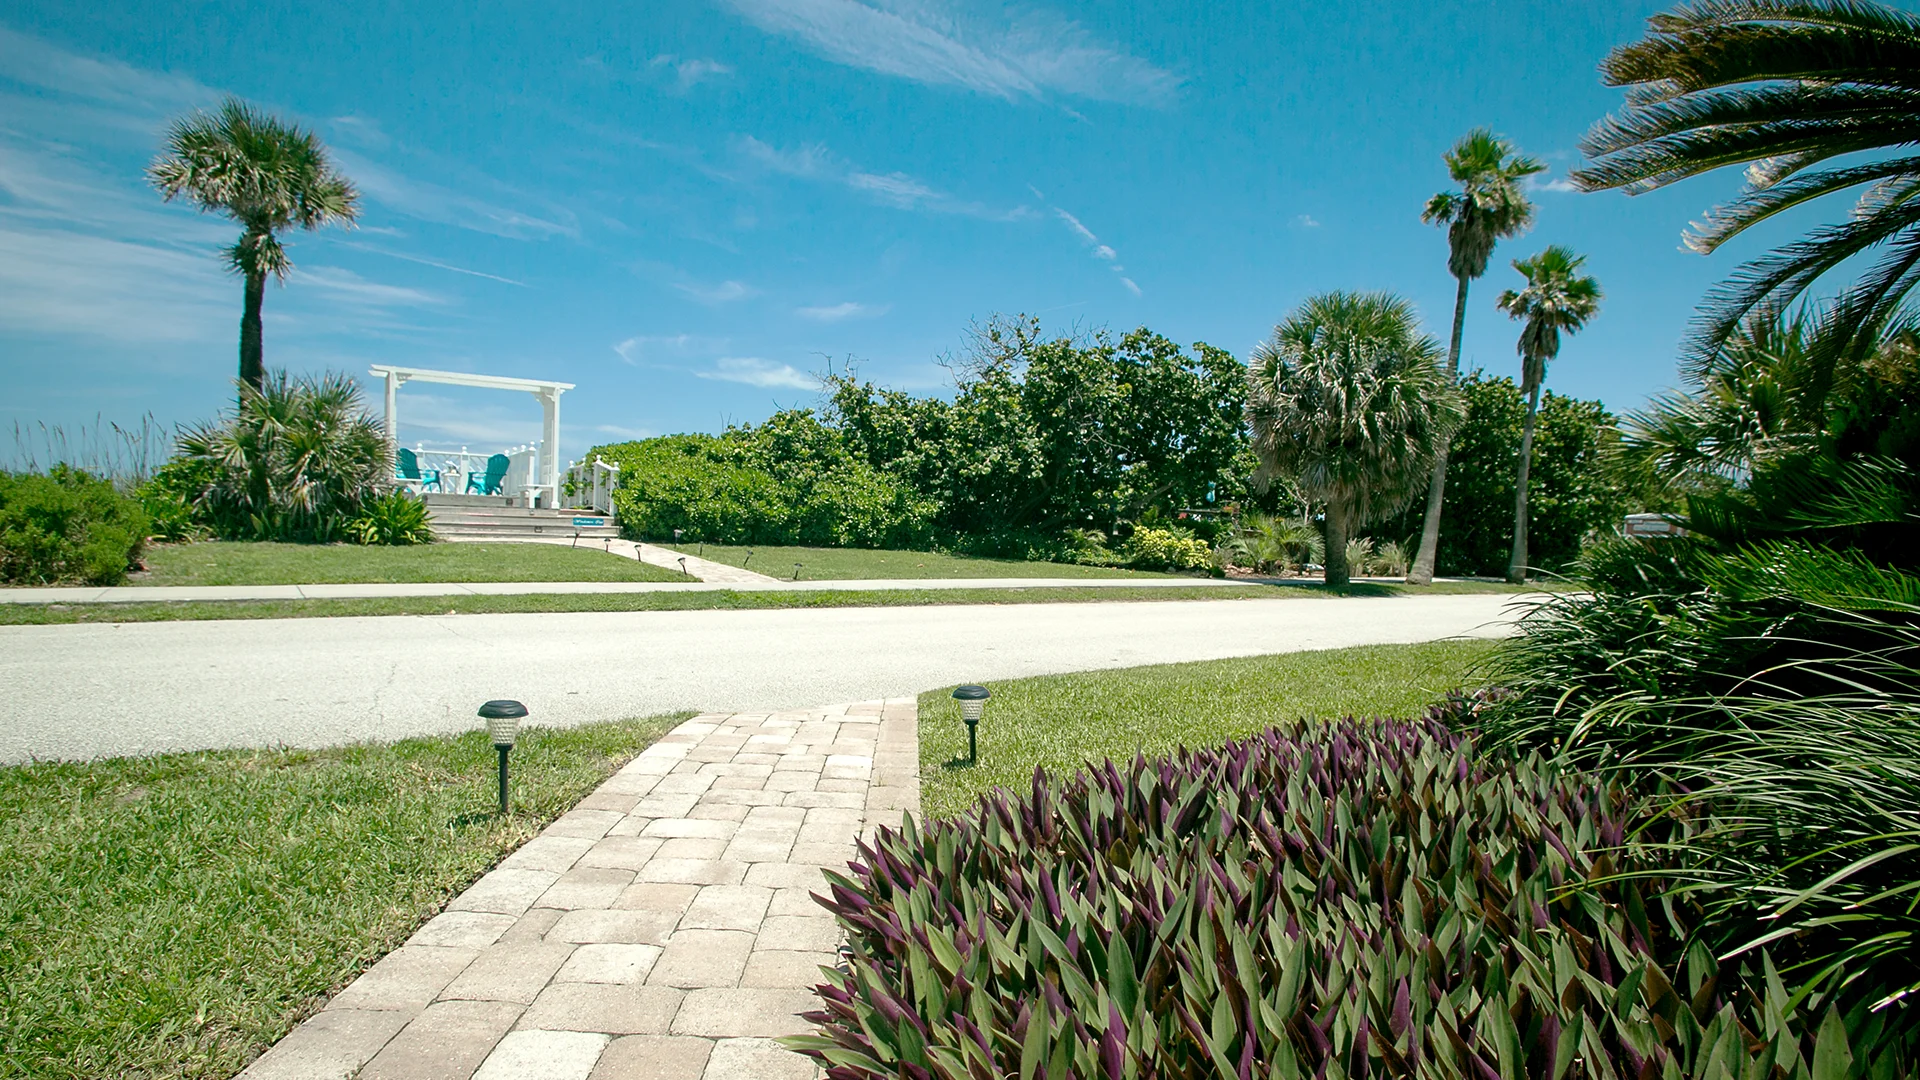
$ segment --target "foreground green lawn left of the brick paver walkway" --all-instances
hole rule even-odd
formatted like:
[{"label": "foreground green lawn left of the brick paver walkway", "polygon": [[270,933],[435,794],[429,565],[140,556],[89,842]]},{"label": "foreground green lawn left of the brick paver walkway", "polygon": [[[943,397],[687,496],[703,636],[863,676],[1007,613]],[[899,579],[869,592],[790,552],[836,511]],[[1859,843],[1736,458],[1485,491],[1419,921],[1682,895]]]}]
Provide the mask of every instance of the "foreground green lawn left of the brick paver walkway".
[{"label": "foreground green lawn left of the brick paver walkway", "polygon": [[232,1076],[678,719],[0,769],[0,1076]]}]

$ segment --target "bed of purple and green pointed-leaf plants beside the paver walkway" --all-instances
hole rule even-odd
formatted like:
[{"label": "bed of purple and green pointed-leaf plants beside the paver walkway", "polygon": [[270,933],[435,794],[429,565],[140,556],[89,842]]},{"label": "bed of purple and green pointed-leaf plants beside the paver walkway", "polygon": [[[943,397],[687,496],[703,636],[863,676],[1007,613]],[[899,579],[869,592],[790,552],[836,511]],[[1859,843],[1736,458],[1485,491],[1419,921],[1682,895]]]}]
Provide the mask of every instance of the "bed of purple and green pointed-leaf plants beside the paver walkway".
[{"label": "bed of purple and green pointed-leaf plants beside the paver walkway", "polygon": [[1837,1019],[1736,1013],[1651,899],[1688,828],[1438,711],[1035,773],[829,872],[847,963],[789,1045],[837,1080],[1847,1074]]}]

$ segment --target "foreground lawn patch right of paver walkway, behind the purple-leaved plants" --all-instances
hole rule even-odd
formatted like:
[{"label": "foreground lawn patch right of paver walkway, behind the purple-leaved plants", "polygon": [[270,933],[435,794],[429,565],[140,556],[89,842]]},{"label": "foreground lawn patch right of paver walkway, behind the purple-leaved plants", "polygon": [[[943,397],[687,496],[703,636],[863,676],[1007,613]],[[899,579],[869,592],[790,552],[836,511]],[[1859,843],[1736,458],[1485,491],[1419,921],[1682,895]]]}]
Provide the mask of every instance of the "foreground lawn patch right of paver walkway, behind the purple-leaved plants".
[{"label": "foreground lawn patch right of paver walkway, behind the purple-leaved plants", "polygon": [[952,688],[929,690],[920,696],[922,809],[945,817],[995,786],[1027,788],[1035,765],[1071,771],[1213,746],[1300,717],[1415,715],[1461,686],[1492,648],[1480,640],[1363,646],[995,682],[972,769]]}]

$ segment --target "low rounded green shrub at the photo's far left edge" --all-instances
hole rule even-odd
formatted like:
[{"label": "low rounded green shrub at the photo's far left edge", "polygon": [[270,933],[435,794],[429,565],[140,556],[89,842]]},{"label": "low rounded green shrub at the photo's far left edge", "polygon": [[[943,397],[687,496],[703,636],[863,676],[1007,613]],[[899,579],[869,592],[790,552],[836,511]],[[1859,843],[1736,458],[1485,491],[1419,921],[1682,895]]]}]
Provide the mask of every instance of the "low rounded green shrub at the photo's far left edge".
[{"label": "low rounded green shrub at the photo's far left edge", "polygon": [[0,580],[121,584],[146,544],[146,511],[79,469],[0,473]]}]

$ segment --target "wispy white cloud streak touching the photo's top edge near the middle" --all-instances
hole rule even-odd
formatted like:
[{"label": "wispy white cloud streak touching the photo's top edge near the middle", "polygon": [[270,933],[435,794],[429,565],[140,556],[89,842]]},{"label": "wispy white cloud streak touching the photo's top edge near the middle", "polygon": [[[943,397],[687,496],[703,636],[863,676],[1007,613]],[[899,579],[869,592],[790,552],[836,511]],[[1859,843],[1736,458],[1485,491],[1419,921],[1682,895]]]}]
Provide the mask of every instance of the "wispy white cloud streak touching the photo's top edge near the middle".
[{"label": "wispy white cloud streak touching the photo's top edge near the middle", "polygon": [[849,67],[995,98],[1162,104],[1181,77],[1050,12],[989,17],[927,0],[724,0],[762,31]]}]

